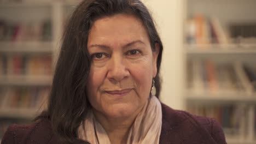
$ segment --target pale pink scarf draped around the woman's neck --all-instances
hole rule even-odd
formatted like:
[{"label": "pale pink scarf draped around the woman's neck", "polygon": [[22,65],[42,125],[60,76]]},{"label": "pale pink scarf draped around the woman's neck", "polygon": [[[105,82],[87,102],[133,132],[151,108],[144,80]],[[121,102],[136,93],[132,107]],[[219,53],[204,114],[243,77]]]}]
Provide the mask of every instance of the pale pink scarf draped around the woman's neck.
[{"label": "pale pink scarf draped around the woman's neck", "polygon": [[[127,144],[159,143],[162,126],[162,109],[158,98],[152,97],[144,105],[133,123]],[[78,128],[79,139],[91,144],[110,144],[110,140],[104,128],[98,123],[91,111],[84,124]]]}]

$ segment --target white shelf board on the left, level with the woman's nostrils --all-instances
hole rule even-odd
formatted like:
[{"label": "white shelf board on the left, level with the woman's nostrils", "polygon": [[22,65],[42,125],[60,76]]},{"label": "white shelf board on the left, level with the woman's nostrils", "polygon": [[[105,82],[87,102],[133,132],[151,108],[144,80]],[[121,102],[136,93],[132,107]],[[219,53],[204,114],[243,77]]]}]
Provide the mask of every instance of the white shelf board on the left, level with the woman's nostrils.
[{"label": "white shelf board on the left, level with the woman's nostrils", "polygon": [[51,76],[0,76],[0,86],[50,86]]}]

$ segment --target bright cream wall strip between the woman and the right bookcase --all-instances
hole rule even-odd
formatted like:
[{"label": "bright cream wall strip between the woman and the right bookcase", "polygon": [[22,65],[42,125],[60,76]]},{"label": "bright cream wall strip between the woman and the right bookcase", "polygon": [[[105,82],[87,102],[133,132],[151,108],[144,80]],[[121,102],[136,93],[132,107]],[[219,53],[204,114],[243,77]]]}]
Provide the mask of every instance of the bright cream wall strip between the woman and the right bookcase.
[{"label": "bright cream wall strip between the woman and the right bookcase", "polygon": [[142,0],[152,11],[157,24],[158,32],[164,52],[162,56],[161,76],[162,91],[161,100],[174,109],[184,109],[182,71],[183,53],[183,0]]}]

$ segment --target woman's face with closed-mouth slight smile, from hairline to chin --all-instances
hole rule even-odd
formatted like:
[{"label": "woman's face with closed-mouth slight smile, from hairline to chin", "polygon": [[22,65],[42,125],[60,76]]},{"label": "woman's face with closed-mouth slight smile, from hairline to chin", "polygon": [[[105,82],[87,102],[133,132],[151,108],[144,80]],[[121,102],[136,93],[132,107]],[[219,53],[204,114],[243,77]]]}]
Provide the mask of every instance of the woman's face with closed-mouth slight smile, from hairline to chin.
[{"label": "woman's face with closed-mouth slight smile, from hairline to chin", "polygon": [[132,15],[98,19],[88,37],[91,69],[86,88],[94,112],[126,118],[146,103],[157,73],[146,29]]}]

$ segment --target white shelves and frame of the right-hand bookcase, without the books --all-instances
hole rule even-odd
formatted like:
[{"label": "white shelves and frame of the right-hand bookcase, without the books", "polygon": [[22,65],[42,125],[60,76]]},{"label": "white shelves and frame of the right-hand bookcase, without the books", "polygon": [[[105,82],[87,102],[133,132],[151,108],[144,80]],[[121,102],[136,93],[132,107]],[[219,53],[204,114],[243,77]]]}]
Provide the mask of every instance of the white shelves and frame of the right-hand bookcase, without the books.
[{"label": "white shelves and frame of the right-hand bookcase, without the books", "polygon": [[[200,14],[204,17],[218,17],[220,25],[224,29],[228,29],[230,23],[252,22],[256,23],[254,16],[254,8],[256,1],[240,1],[240,0],[185,0],[185,20],[184,29],[187,27],[187,20],[193,15]],[[184,30],[186,32],[186,30]],[[185,34],[184,34],[185,39]],[[184,40],[185,41],[185,40]],[[226,44],[187,44],[183,45],[186,68],[188,61],[210,59],[218,63],[233,63],[241,61],[245,63],[256,63],[256,44],[255,43],[234,43],[234,39],[230,39]],[[255,41],[255,38],[254,38]],[[188,79],[188,76],[185,76]],[[226,134],[226,141],[231,144],[251,144],[256,143],[255,126],[255,105],[256,93],[247,93],[245,91],[210,91],[202,88],[191,89],[187,85],[184,86],[184,103],[185,105],[235,105],[245,106],[246,111],[243,113],[245,118],[240,122],[238,134]],[[188,107],[187,107],[188,108]]]}]

